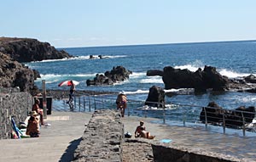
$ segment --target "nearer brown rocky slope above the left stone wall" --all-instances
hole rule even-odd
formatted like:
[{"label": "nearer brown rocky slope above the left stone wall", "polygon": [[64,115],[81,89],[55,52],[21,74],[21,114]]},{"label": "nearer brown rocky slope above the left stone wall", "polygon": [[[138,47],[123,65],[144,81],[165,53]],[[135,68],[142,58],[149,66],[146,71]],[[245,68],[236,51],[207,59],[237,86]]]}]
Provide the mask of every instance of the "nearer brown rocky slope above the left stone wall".
[{"label": "nearer brown rocky slope above the left stone wall", "polygon": [[0,87],[20,87],[21,92],[30,92],[34,88],[36,70],[27,68],[0,52]]}]

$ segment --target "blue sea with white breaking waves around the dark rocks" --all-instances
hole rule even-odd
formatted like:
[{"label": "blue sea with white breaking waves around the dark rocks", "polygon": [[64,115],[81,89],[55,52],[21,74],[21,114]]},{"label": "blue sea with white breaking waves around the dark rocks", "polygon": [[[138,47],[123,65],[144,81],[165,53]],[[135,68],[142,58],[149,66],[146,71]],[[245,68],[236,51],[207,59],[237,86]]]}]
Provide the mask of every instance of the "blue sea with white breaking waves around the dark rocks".
[{"label": "blue sea with white breaking waves around the dark rocks", "polygon": [[[74,80],[79,81],[77,90],[125,91],[129,99],[145,101],[150,87],[165,87],[160,76],[147,76],[147,70],[163,70],[166,66],[172,66],[195,71],[210,65],[229,78],[256,75],[256,41],[61,49],[75,58],[26,63],[40,72],[42,78],[36,81],[39,88],[42,87],[42,80],[45,80],[48,89],[68,89],[58,87],[58,84],[61,81]],[[90,55],[102,55],[104,59],[90,59]],[[132,71],[129,80],[111,86],[86,86],[86,80],[92,80],[96,74],[104,74],[119,65]],[[256,106],[256,95],[249,92],[206,92],[200,95],[189,93],[166,97],[166,102],[198,106],[207,106],[211,101],[224,109],[236,109],[239,106]]]}]

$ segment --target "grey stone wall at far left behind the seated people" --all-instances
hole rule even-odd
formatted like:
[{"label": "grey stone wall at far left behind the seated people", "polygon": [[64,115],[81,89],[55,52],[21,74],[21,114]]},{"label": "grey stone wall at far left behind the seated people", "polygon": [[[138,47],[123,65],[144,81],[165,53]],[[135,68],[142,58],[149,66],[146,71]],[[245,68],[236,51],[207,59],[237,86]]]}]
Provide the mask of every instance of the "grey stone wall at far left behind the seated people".
[{"label": "grey stone wall at far left behind the seated people", "polygon": [[[10,92],[10,91],[9,91]],[[0,139],[11,138],[13,130],[11,116],[15,117],[15,123],[26,120],[32,109],[32,95],[28,92],[3,93],[0,92]]]}]

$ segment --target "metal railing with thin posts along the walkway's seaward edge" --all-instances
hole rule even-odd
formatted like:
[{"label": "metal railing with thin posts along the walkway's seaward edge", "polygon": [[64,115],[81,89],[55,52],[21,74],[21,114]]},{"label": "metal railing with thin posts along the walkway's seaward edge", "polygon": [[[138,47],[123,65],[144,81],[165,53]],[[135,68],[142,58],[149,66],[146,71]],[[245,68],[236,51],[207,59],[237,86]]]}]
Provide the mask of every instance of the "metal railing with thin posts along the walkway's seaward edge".
[{"label": "metal railing with thin posts along the walkway's seaward edge", "polygon": [[[116,109],[116,94],[115,95],[89,95],[79,94],[74,97],[74,101],[70,104],[70,109],[79,112],[91,112],[96,109]],[[241,111],[218,109],[212,107],[204,107],[198,105],[180,104],[180,103],[154,103],[163,105],[158,108],[145,106],[144,101],[128,100],[125,115],[137,115],[141,117],[152,117],[162,120],[163,124],[166,121],[178,121],[186,126],[188,123],[200,124],[201,126],[222,126],[223,133],[226,128],[241,129],[243,136],[246,136],[246,131],[251,131],[248,126],[251,124],[255,113]]]}]

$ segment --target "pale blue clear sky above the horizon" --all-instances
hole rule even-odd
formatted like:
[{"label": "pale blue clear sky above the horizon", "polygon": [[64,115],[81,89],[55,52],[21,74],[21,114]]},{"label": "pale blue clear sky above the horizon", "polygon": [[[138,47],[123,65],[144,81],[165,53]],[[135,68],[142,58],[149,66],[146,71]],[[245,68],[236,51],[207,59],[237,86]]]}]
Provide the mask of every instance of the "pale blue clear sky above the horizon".
[{"label": "pale blue clear sky above the horizon", "polygon": [[0,0],[0,36],[55,47],[256,40],[255,0]]}]

